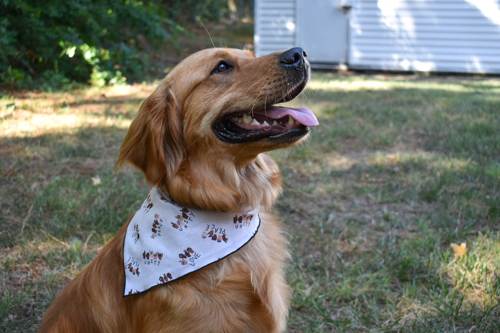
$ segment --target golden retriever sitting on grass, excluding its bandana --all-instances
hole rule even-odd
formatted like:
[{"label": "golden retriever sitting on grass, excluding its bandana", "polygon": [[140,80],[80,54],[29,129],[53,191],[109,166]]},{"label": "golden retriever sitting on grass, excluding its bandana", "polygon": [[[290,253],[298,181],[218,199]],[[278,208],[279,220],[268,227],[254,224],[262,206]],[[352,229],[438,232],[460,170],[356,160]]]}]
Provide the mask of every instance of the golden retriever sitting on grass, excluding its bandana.
[{"label": "golden retriever sitting on grass, excluding its bandana", "polygon": [[218,212],[260,206],[255,237],[202,270],[123,297],[122,251],[130,217],[52,302],[40,333],[285,329],[287,241],[269,213],[281,180],[275,161],[262,153],[297,144],[317,125],[308,109],[273,106],[305,87],[305,56],[299,47],[258,58],[230,48],[188,56],[142,103],[119,151],[117,168],[139,168],[151,187],[183,206]]}]

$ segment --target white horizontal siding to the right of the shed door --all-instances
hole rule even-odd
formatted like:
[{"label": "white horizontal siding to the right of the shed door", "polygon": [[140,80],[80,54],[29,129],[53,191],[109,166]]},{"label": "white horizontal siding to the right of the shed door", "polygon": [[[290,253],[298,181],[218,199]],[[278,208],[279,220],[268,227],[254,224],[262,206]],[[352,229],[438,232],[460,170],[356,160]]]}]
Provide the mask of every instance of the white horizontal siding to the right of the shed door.
[{"label": "white horizontal siding to the right of the shed door", "polygon": [[354,0],[353,68],[500,73],[499,0]]}]

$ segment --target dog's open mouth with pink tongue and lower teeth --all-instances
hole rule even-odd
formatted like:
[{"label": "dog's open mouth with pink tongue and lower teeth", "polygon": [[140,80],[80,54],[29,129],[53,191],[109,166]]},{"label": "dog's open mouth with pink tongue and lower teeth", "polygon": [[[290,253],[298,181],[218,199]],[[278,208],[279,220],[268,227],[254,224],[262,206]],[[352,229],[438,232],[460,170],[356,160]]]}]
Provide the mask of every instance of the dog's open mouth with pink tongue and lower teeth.
[{"label": "dog's open mouth with pink tongue and lower teeth", "polygon": [[213,130],[222,141],[244,143],[263,138],[298,139],[307,134],[309,127],[317,125],[316,117],[308,108],[267,106],[225,114],[214,123]]}]

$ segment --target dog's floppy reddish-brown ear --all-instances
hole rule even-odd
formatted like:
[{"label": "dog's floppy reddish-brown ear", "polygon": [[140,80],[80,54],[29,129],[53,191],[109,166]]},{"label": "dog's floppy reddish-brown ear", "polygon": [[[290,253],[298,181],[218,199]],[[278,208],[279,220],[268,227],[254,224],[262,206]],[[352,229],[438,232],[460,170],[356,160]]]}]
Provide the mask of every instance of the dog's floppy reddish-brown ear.
[{"label": "dog's floppy reddish-brown ear", "polygon": [[169,84],[162,82],[144,100],[121,144],[115,168],[130,163],[142,170],[150,186],[157,185],[182,160],[178,107]]}]

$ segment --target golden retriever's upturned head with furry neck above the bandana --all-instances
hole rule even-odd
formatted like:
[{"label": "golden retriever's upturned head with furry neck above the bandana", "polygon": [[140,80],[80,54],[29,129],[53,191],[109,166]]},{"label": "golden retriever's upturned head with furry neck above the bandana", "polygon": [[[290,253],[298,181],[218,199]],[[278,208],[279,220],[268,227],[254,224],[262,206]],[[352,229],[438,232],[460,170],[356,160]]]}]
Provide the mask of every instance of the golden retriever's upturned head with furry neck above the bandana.
[{"label": "golden retriever's upturned head with furry neck above the bandana", "polygon": [[273,106],[304,89],[305,56],[299,47],[258,58],[228,48],[188,56],[142,103],[116,165],[135,165],[186,206],[270,204],[279,177],[260,153],[294,145],[317,125],[306,108]]}]

